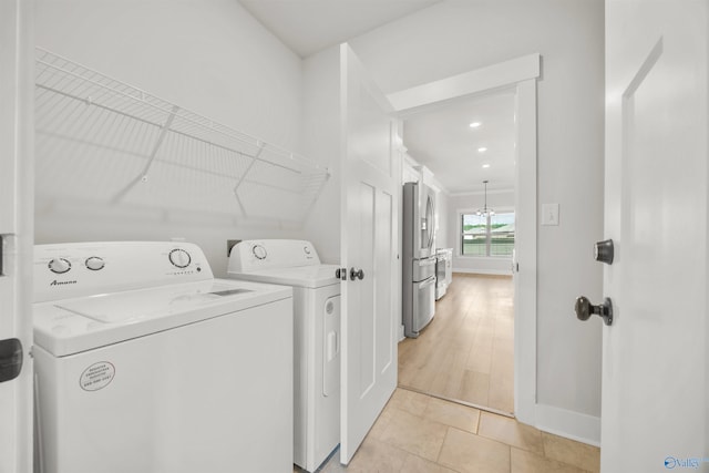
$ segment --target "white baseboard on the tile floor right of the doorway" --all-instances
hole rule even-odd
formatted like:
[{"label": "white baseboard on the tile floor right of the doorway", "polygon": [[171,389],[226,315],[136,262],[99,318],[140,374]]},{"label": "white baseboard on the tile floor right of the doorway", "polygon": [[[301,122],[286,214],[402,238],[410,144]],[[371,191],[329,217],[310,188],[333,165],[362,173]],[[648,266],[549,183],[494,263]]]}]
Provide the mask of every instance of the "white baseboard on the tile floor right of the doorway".
[{"label": "white baseboard on the tile floor right of the doorway", "polygon": [[600,446],[600,418],[536,404],[535,423],[544,432]]}]

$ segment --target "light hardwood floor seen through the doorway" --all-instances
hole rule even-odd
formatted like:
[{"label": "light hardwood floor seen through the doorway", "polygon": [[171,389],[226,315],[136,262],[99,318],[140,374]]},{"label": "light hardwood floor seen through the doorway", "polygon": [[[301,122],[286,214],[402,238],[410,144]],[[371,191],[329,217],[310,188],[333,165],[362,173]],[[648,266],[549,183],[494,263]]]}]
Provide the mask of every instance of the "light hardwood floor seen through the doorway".
[{"label": "light hardwood floor seen through the doorway", "polygon": [[399,385],[512,413],[513,322],[512,277],[454,274],[431,323],[399,343]]}]

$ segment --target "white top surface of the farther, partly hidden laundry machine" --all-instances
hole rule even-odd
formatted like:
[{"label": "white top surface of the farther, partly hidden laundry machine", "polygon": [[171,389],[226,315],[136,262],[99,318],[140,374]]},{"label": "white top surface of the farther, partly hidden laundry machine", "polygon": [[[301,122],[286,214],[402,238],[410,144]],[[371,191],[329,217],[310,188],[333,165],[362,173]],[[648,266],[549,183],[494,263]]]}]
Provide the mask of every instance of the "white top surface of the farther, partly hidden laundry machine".
[{"label": "white top surface of the farther, partly hidden laundry machine", "polygon": [[273,268],[251,273],[229,271],[229,277],[259,282],[269,282],[305,288],[319,288],[339,284],[335,277],[337,265],[298,266]]}]

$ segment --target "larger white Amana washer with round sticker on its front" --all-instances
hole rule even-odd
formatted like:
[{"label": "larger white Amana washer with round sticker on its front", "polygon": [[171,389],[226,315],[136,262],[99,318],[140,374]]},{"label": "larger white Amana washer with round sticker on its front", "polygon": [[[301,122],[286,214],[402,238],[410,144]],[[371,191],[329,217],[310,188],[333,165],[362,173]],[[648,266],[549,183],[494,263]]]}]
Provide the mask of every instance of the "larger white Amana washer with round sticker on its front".
[{"label": "larger white Amana washer with round sticker on its front", "polygon": [[34,249],[35,470],[290,472],[292,290],[186,243]]}]

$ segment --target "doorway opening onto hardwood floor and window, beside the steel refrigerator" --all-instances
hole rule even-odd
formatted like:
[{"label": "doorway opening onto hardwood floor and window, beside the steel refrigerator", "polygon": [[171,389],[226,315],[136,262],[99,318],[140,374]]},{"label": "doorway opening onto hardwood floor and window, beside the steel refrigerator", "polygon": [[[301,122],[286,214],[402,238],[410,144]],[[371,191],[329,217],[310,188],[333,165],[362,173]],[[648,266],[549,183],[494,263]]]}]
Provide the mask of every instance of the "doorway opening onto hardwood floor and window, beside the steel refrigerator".
[{"label": "doorway opening onto hardwood floor and window, beside the steel refrigerator", "polygon": [[399,345],[399,387],[506,415],[514,411],[514,119],[515,89],[506,88],[402,124],[405,165],[424,166],[424,184],[439,189],[434,241],[451,260],[436,269],[444,263],[459,273],[448,289],[436,284],[435,317],[419,338]]}]

